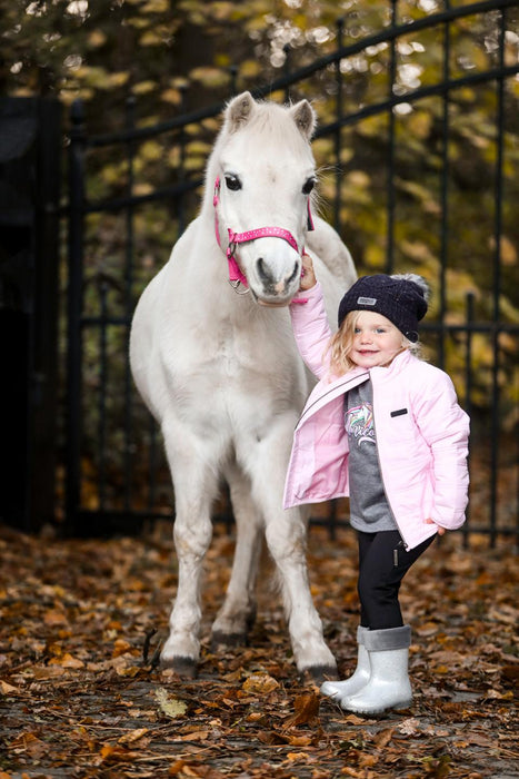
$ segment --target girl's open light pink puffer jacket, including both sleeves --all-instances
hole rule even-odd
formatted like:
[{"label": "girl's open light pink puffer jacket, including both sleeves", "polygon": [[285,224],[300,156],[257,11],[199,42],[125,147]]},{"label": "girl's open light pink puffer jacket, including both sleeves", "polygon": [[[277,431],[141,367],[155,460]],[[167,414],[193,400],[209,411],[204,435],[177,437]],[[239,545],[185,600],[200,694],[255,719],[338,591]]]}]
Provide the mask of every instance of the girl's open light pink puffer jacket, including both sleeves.
[{"label": "girl's open light pink puffer jacket, including both sleeves", "polygon": [[343,395],[371,378],[380,471],[388,502],[408,549],[465,522],[469,417],[450,377],[406,351],[388,367],[329,376],[323,353],[331,336],[319,284],[307,303],[290,306],[296,341],[320,378],[293,435],[285,507],[349,494]]}]

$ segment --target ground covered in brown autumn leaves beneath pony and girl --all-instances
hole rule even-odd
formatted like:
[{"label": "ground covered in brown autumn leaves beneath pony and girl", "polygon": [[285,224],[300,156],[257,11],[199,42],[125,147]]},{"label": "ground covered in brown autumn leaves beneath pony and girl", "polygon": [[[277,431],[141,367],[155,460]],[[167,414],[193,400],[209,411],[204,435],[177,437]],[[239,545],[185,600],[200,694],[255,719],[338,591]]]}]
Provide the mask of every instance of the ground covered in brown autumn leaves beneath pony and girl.
[{"label": "ground covered in brown autumn leaves beneath pony and girl", "polygon": [[[176,561],[147,539],[60,541],[0,526],[0,779],[519,777],[517,559],[450,535],[402,586],[412,707],[348,716],[298,679],[268,559],[247,648],[209,650],[232,539],[216,527],[196,681],[153,668]],[[353,535],[309,535],[312,592],[339,667],[356,657]],[[153,633],[157,631],[157,633]]]}]

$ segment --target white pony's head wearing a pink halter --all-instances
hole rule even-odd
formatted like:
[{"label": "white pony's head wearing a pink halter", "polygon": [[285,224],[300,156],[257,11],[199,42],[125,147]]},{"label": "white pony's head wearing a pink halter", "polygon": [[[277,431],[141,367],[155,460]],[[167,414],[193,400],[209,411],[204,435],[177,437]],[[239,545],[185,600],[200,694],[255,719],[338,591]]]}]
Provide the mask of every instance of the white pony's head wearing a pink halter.
[{"label": "white pony's head wearing a pink halter", "polygon": [[315,126],[307,100],[288,108],[243,92],[227,107],[208,165],[217,240],[230,280],[241,282],[263,305],[287,305],[299,289],[316,184]]}]

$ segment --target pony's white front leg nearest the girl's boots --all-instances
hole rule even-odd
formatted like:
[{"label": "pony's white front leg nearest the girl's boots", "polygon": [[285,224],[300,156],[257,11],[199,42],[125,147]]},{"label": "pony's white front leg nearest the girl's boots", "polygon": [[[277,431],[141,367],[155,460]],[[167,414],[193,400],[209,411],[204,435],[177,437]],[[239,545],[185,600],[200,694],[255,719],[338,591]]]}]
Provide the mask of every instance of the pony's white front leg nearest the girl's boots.
[{"label": "pony's white front leg nearest the girl's boots", "polygon": [[287,442],[293,418],[279,416],[252,454],[249,442],[243,456],[252,480],[252,496],[266,522],[267,544],[281,581],[283,605],[297,668],[316,681],[337,677],[337,663],[328,649],[322,623],[313,605],[307,571],[307,527],[298,509],[282,509]]}]

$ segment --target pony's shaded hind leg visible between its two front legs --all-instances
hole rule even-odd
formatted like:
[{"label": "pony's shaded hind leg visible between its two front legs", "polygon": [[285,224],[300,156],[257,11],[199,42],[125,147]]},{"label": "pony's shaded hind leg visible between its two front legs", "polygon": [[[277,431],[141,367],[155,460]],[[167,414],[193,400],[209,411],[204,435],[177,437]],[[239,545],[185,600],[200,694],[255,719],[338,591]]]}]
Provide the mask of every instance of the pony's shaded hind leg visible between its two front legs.
[{"label": "pony's shaded hind leg visible between its two front legs", "polygon": [[261,555],[262,517],[250,495],[250,481],[237,467],[227,473],[237,540],[226,600],[212,625],[212,644],[239,645],[256,620],[256,580]]}]

